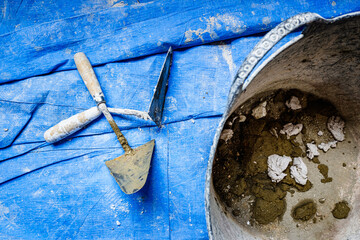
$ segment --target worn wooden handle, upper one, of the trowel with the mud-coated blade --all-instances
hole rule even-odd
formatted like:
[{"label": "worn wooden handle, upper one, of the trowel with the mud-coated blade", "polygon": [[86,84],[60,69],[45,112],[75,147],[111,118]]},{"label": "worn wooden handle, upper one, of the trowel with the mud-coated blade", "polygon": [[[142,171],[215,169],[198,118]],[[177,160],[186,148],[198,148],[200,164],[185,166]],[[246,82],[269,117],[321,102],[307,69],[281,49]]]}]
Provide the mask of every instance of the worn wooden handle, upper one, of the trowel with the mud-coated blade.
[{"label": "worn wooden handle, upper one, of the trowel with the mud-coated blade", "polygon": [[79,52],[74,56],[76,67],[84,81],[87,89],[97,104],[105,102],[104,94],[101,90],[95,72],[84,53]]}]

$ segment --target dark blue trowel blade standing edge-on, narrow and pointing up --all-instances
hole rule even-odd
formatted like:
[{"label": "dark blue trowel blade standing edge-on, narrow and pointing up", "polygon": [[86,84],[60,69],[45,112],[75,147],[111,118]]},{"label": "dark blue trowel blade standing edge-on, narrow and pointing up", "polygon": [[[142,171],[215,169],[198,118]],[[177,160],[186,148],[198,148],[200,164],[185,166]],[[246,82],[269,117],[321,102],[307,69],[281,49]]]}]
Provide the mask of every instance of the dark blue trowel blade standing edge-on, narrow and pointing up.
[{"label": "dark blue trowel blade standing edge-on, narrow and pointing up", "polygon": [[161,118],[164,108],[165,95],[167,91],[167,85],[170,75],[170,67],[172,63],[172,48],[170,47],[165,62],[162,66],[158,83],[155,88],[153,98],[150,103],[149,116],[158,125],[161,126]]}]

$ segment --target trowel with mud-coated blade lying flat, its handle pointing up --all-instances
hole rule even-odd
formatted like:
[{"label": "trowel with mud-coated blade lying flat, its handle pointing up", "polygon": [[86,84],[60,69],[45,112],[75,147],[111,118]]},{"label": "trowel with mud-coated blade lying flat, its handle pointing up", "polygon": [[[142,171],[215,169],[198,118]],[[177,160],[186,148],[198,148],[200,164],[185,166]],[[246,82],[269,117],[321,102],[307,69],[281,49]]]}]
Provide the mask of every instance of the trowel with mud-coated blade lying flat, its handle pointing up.
[{"label": "trowel with mud-coated blade lying flat, its handle pointing up", "polygon": [[[97,103],[98,109],[108,120],[111,128],[116,134],[117,139],[125,151],[124,155],[113,160],[106,161],[105,164],[109,168],[111,175],[115,178],[120,188],[126,194],[135,193],[139,191],[146,182],[155,146],[155,140],[151,140],[140,147],[132,149],[125,136],[116,125],[106,106],[105,96],[88,58],[84,53],[80,52],[75,54],[74,60],[81,78],[83,79],[91,96]],[[164,89],[165,88],[166,86]],[[163,94],[165,95],[165,92]],[[160,101],[159,103],[155,103],[154,109],[157,110],[155,111],[155,115],[160,113],[161,118],[162,106],[160,107],[159,104]]]}]

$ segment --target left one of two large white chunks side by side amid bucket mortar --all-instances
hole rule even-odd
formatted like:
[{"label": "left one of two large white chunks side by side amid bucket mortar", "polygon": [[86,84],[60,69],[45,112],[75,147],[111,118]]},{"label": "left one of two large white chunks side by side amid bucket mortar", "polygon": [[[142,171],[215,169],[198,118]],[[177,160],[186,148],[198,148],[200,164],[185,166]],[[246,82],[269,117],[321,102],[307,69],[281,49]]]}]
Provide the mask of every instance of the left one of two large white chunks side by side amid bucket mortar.
[{"label": "left one of two large white chunks side by side amid bucket mortar", "polygon": [[283,171],[287,168],[292,159],[288,156],[277,154],[268,157],[268,175],[273,182],[280,182],[286,174]]}]

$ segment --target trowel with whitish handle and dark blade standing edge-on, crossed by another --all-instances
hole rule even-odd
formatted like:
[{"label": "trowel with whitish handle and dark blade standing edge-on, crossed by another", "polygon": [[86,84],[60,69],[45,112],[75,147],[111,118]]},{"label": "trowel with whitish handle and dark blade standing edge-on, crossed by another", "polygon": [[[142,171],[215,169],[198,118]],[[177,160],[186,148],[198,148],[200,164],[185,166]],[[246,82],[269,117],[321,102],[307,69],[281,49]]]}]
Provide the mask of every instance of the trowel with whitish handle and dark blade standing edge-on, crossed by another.
[{"label": "trowel with whitish handle and dark blade standing edge-on, crossed by another", "polygon": [[[162,66],[148,112],[132,109],[108,108],[109,112],[121,115],[132,115],[144,120],[152,120],[156,123],[157,126],[160,127],[171,62],[172,48],[170,47]],[[98,109],[98,107],[92,107],[86,111],[71,116],[68,119],[62,120],[55,126],[49,128],[44,133],[44,138],[48,143],[60,141],[79,131],[100,116],[101,111]]]}]

